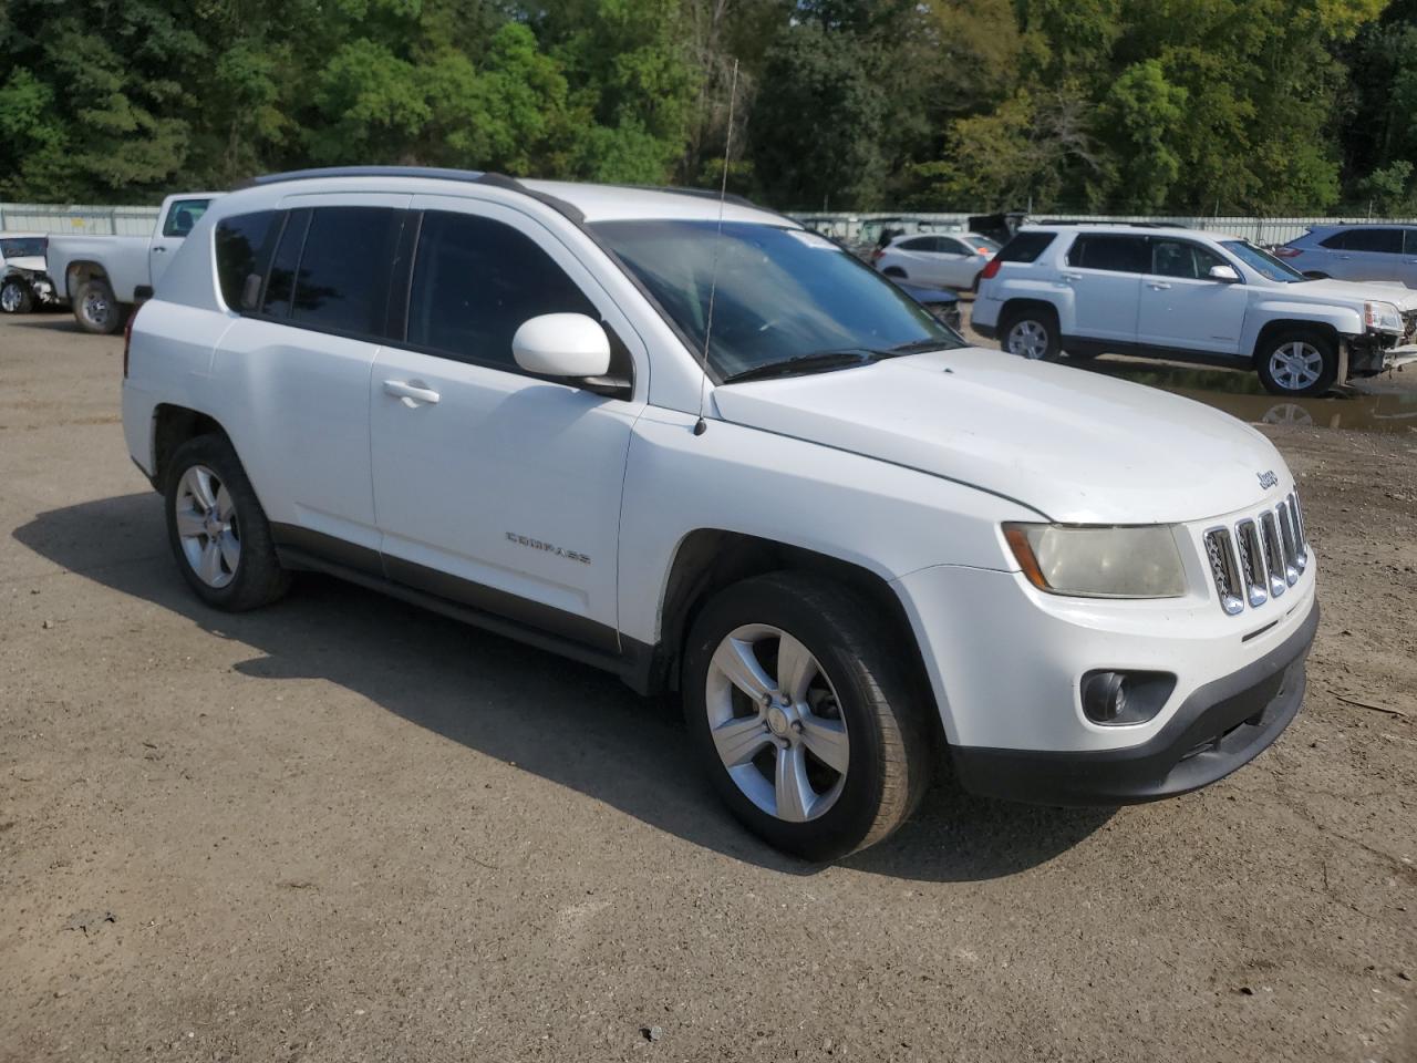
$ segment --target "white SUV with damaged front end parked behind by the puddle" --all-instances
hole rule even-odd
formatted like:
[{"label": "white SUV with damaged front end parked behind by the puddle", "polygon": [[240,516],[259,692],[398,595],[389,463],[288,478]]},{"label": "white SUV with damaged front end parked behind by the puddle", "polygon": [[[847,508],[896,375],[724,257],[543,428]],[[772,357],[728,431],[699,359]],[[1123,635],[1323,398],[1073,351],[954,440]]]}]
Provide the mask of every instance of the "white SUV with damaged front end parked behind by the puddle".
[{"label": "white SUV with damaged front end parked behind by the puddle", "polygon": [[1238,237],[1161,225],[1039,225],[985,268],[972,327],[1029,359],[1104,351],[1254,369],[1316,395],[1394,361],[1417,293],[1315,281]]}]

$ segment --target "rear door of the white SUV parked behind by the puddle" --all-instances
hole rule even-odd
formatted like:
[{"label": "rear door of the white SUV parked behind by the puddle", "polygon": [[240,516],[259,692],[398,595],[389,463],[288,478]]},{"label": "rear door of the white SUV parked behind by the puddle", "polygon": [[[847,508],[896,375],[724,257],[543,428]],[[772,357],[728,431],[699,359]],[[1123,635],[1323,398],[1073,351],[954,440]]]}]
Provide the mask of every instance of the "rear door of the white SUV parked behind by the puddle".
[{"label": "rear door of the white SUV parked behind by the puddle", "polygon": [[1145,237],[1080,234],[1058,275],[1073,288],[1077,336],[1135,343],[1142,274],[1149,268]]}]

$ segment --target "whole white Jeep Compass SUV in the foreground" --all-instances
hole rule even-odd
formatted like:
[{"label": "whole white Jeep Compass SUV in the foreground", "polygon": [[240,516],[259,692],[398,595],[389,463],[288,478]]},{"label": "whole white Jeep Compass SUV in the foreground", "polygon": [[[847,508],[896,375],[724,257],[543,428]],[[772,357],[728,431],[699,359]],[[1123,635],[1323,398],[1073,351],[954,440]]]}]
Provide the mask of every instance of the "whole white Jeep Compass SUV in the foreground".
[{"label": "whole white Jeep Compass SUV in the foreground", "polygon": [[1261,435],[962,347],[743,201],[262,179],[137,313],[123,424],[204,601],[334,573],[676,689],[728,806],[809,859],[937,757],[1050,804],[1213,782],[1294,719],[1318,624]]}]

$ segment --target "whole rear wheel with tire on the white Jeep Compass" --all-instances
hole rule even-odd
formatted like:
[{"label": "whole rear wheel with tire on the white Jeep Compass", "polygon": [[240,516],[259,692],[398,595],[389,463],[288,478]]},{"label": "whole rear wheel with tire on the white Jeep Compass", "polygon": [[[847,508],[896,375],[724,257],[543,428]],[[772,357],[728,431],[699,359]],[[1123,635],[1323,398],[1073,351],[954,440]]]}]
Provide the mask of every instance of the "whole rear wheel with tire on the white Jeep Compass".
[{"label": "whole rear wheel with tire on the white Jeep Compass", "polygon": [[167,463],[167,540],[187,584],[211,607],[245,612],[290,585],[271,524],[231,442],[188,439]]}]

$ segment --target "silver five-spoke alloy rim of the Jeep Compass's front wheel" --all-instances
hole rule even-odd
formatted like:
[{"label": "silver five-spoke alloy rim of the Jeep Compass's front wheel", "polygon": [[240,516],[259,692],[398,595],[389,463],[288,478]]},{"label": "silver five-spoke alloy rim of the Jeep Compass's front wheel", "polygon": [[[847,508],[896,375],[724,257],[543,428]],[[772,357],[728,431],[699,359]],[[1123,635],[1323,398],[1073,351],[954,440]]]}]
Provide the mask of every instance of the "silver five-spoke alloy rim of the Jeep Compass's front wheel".
[{"label": "silver five-spoke alloy rim of the Jeep Compass's front wheel", "polygon": [[802,823],[842,795],[850,738],[832,680],[786,631],[747,624],[718,643],[704,704],[714,748],[748,801]]}]

